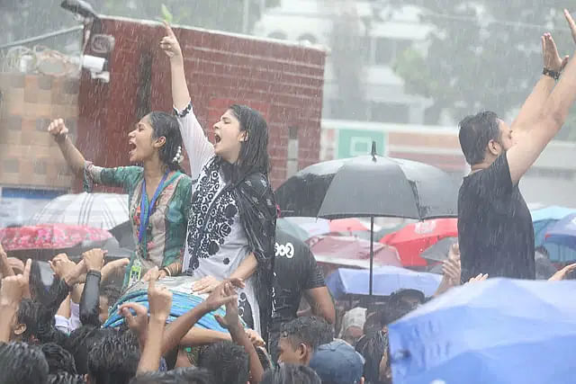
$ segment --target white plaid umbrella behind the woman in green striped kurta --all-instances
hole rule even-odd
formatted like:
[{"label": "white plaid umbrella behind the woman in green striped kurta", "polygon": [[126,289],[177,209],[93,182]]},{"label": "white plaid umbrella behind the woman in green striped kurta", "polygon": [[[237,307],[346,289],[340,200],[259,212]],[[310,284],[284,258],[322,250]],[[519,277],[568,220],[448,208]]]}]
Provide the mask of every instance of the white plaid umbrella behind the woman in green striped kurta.
[{"label": "white plaid umbrella behind the woman in green striped kurta", "polygon": [[30,225],[70,224],[112,229],[128,221],[128,195],[117,193],[65,194],[49,201]]}]

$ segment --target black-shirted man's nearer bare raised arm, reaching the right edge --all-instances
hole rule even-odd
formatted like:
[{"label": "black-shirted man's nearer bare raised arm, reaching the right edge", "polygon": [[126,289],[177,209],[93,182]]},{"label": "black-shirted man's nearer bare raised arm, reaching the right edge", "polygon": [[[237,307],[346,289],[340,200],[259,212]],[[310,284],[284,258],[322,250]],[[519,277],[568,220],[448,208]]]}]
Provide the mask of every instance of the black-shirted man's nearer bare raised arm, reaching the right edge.
[{"label": "black-shirted man's nearer bare raised arm, reaching the right edge", "polygon": [[[576,23],[568,11],[564,10],[564,15],[572,30],[572,38],[576,41]],[[533,121],[523,123],[530,128],[529,132],[507,152],[512,183],[518,183],[550,140],[560,131],[575,101],[576,61],[572,59],[554,91],[546,99],[539,116]]]}]

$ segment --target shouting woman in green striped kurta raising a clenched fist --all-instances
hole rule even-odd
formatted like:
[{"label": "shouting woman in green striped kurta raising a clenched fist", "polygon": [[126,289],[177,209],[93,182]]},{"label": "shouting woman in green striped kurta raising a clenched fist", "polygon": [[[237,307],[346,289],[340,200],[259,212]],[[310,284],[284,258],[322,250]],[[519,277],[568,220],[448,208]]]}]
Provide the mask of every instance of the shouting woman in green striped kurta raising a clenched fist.
[{"label": "shouting woman in green striped kurta raising a clenched fist", "polygon": [[129,133],[130,162],[142,166],[93,165],[67,138],[62,119],[52,121],[48,130],[74,174],[84,177],[86,192],[96,183],[122,187],[129,194],[130,223],[137,246],[124,287],[139,281],[154,266],[161,268],[160,277],[182,272],[192,179],[180,171],[184,156],[175,117],[150,112]]}]

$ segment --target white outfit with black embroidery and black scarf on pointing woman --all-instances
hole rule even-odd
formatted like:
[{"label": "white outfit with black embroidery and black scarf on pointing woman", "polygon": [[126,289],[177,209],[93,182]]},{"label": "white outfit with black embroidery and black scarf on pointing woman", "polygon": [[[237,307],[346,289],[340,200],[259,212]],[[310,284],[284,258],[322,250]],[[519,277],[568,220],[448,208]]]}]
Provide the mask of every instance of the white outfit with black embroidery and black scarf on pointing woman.
[{"label": "white outfit with black embroidery and black scarf on pointing woman", "polygon": [[260,333],[268,322],[275,244],[276,205],[267,175],[241,171],[215,156],[192,103],[175,113],[195,180],[183,272],[193,280],[224,280],[253,253],[257,272],[238,291],[238,311]]}]

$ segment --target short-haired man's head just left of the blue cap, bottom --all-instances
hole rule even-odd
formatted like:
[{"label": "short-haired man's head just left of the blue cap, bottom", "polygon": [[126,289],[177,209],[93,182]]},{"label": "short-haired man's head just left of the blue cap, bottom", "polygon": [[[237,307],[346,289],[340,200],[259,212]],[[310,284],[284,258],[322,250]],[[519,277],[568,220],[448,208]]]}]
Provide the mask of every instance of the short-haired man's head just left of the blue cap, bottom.
[{"label": "short-haired man's head just left of the blue cap, bottom", "polygon": [[321,344],[334,340],[332,326],[319,317],[298,317],[283,324],[278,342],[278,362],[308,365]]}]

